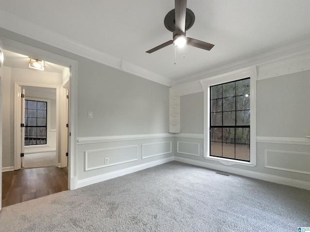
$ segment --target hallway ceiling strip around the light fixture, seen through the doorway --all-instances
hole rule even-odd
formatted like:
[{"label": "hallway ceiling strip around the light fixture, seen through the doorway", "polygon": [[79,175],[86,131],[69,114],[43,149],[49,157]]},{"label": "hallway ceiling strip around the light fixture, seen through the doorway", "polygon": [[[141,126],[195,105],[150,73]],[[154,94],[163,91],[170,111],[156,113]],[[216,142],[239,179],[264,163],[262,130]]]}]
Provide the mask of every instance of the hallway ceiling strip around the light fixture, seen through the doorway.
[{"label": "hallway ceiling strip around the light fixture, seen through the doorway", "polygon": [[[21,55],[15,52],[3,50],[3,66],[10,68],[18,68],[18,69],[30,69],[29,61],[30,58],[25,55]],[[44,72],[52,72],[52,73],[62,73],[66,67],[53,64],[45,61],[45,70]],[[31,69],[34,70],[34,69]],[[42,71],[37,71],[42,72]]]}]

